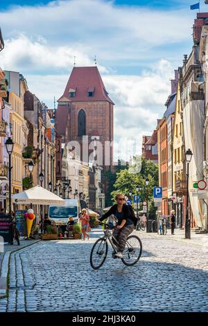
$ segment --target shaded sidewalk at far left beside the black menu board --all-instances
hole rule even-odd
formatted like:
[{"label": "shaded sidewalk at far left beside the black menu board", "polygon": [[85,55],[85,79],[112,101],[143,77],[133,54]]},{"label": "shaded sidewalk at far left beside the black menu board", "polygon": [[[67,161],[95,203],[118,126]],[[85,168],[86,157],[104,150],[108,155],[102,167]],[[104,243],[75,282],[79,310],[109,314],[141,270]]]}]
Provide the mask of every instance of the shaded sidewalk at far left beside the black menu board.
[{"label": "shaded sidewalk at far left beside the black menu board", "polygon": [[7,277],[8,277],[8,264],[10,254],[24,247],[34,245],[40,240],[21,240],[20,245],[4,245],[3,252],[0,252],[0,298],[4,297],[7,293]]}]

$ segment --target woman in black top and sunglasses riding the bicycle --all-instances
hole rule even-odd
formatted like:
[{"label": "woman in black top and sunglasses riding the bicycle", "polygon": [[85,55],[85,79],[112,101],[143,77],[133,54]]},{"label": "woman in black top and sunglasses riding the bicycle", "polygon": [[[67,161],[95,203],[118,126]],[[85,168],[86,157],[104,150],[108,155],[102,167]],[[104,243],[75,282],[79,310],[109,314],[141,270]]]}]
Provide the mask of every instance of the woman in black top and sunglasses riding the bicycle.
[{"label": "woman in black top and sunglasses riding the bicycle", "polygon": [[122,258],[122,252],[125,249],[126,240],[135,229],[137,218],[132,214],[128,205],[125,204],[125,197],[123,194],[117,194],[115,199],[117,204],[114,204],[99,220],[103,221],[109,218],[110,215],[116,216],[118,222],[112,235],[116,238],[116,241],[118,241],[119,247],[118,252],[114,255],[118,258]]}]

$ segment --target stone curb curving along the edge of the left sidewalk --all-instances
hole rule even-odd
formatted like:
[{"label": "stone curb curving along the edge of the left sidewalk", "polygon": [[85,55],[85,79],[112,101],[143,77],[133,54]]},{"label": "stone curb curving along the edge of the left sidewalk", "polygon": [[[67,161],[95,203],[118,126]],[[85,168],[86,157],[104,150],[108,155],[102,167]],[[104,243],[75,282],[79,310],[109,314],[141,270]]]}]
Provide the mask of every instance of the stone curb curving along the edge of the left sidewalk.
[{"label": "stone curb curving along the edge of the left sidewalk", "polygon": [[3,255],[3,260],[1,264],[1,274],[0,274],[0,299],[5,298],[8,295],[8,272],[9,272],[9,262],[10,262],[10,254],[18,252],[20,250],[24,250],[31,245],[36,245],[41,240],[36,241],[35,243],[29,243],[24,247],[17,248],[10,252],[5,252]]}]

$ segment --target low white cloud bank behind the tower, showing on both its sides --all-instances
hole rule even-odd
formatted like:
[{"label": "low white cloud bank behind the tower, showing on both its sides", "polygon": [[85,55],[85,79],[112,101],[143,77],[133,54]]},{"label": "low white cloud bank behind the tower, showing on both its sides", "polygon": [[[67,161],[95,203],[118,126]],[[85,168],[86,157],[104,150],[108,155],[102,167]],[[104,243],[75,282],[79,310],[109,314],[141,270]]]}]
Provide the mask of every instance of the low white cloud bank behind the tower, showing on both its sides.
[{"label": "low white cloud bank behind the tower, showing on both its sides", "polygon": [[[141,154],[142,136],[150,135],[157,127],[157,119],[165,111],[164,103],[171,90],[170,77],[173,77],[173,67],[166,60],[141,76],[103,76],[105,87],[116,104],[114,148],[116,151],[120,148],[123,159],[133,152]],[[52,107],[53,97],[58,99],[62,95],[68,79],[69,74],[27,76],[32,92]]]}]

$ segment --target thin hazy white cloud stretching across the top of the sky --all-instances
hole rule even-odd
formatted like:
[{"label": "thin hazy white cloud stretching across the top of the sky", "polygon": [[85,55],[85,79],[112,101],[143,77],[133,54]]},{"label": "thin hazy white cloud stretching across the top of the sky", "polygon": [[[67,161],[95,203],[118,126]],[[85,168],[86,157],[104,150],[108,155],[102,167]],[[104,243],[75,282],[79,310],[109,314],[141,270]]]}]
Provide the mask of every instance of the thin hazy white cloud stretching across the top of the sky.
[{"label": "thin hazy white cloud stretching across the top of the sky", "polygon": [[6,38],[26,33],[34,42],[43,36],[51,47],[74,49],[81,44],[89,58],[97,55],[98,60],[119,64],[125,59],[150,60],[160,52],[160,45],[168,48],[189,40],[192,17],[188,10],[154,11],[104,0],[67,0],[41,7],[17,6],[1,12],[0,19]]}]

